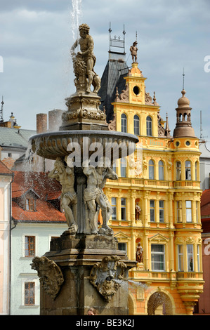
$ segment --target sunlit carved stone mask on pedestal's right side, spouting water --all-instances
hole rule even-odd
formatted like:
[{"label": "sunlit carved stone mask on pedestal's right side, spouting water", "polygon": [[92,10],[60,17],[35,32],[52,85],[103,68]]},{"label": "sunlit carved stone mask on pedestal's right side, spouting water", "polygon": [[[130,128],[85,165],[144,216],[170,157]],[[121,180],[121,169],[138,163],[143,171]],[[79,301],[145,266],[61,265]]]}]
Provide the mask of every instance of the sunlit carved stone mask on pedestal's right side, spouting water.
[{"label": "sunlit carved stone mask on pedestal's right side, spouting water", "polygon": [[120,280],[124,279],[126,265],[119,261],[119,256],[106,256],[100,263],[93,265],[90,273],[90,282],[110,302],[119,289]]}]

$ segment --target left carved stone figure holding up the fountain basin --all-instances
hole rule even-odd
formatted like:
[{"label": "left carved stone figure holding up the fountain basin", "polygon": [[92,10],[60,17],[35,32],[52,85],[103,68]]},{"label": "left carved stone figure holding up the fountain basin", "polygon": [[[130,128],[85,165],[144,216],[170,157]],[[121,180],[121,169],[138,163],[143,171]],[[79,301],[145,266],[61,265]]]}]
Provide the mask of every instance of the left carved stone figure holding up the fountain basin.
[{"label": "left carved stone figure holding up the fountain basin", "polygon": [[67,225],[72,233],[77,232],[77,194],[74,191],[74,168],[65,166],[64,161],[56,159],[54,169],[48,173],[50,178],[55,178],[62,185],[61,207],[65,211]]}]

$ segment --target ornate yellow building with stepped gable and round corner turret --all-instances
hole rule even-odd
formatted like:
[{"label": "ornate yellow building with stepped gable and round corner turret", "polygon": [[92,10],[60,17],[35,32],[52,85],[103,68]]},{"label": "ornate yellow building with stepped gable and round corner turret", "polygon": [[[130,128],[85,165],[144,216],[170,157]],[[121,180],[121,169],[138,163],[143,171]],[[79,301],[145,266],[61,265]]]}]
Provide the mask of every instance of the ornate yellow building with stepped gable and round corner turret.
[{"label": "ornate yellow building with stepped gable and round corner turret", "polygon": [[105,185],[110,226],[119,249],[138,261],[129,272],[130,315],[192,315],[204,286],[199,139],[185,91],[171,136],[145,80],[133,62],[125,88],[115,89],[110,127],[136,134],[139,143],[134,162],[121,159],[114,165],[119,179]]}]

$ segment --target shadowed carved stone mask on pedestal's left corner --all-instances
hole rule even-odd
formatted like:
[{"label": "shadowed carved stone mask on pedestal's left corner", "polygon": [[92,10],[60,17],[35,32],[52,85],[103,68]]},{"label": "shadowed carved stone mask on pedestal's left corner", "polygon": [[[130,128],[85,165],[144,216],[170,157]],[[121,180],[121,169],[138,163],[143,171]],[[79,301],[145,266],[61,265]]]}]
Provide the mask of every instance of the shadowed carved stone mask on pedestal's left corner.
[{"label": "shadowed carved stone mask on pedestal's left corner", "polygon": [[45,256],[41,258],[35,257],[32,262],[32,269],[37,270],[39,281],[44,291],[55,300],[60,291],[60,286],[64,282],[60,267],[53,260],[49,260]]}]

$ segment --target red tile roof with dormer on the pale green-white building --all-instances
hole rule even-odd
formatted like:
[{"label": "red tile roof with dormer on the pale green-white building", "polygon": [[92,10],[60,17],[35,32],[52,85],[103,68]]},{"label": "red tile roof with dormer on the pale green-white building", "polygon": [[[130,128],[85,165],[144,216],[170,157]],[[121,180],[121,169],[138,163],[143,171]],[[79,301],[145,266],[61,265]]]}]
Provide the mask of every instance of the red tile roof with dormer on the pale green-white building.
[{"label": "red tile roof with dormer on the pale green-white building", "polygon": [[[48,178],[48,173],[15,171],[14,174],[12,216],[15,220],[66,223],[64,213],[48,202],[60,197],[61,185],[57,180]],[[37,195],[36,211],[25,211],[18,202],[18,197],[29,190]]]}]

